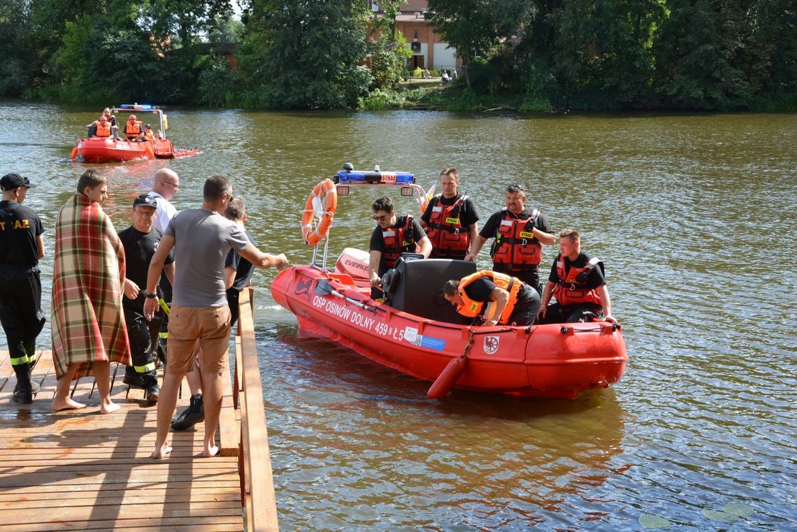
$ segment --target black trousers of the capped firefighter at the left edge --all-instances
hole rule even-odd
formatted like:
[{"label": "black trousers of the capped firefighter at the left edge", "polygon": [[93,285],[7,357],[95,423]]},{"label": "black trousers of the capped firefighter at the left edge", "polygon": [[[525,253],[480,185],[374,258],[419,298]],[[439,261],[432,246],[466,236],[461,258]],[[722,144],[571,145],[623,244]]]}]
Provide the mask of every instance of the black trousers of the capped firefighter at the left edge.
[{"label": "black trousers of the capped firefighter at the left edge", "polygon": [[36,363],[36,337],[45,325],[38,268],[0,264],[0,322],[14,373],[27,374]]}]

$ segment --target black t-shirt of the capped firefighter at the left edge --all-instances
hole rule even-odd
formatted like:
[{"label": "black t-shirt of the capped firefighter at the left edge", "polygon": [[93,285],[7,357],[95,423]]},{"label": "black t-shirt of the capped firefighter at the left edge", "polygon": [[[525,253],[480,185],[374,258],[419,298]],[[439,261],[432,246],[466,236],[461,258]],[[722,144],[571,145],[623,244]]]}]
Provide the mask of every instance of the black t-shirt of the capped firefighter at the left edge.
[{"label": "black t-shirt of the capped firefighter at the left edge", "polygon": [[33,209],[13,200],[0,201],[0,264],[16,268],[39,264],[36,237],[44,232]]}]

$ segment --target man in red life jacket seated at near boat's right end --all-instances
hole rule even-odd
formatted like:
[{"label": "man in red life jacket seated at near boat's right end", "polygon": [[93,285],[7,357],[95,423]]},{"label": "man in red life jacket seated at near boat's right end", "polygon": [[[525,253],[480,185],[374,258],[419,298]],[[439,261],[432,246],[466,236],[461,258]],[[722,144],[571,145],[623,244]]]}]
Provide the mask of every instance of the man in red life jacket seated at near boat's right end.
[{"label": "man in red life jacket seated at near boat's right end", "polygon": [[[575,229],[559,233],[559,250],[537,312],[539,322],[578,323],[604,319],[617,323],[611,315],[603,262],[581,251],[581,236]],[[552,295],[556,303],[548,306]]]}]

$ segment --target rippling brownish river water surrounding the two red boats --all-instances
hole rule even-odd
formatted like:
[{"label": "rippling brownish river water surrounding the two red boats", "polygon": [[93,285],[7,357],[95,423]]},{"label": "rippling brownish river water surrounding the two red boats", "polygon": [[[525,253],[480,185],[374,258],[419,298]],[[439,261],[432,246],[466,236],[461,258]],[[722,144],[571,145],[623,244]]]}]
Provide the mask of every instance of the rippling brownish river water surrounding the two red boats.
[{"label": "rippling brownish river water surrounding the two red boats", "polygon": [[[274,273],[258,272],[282,530],[797,528],[797,115],[173,109],[175,145],[200,155],[71,162],[98,111],[0,100],[0,173],[40,185],[26,205],[48,229],[48,315],[54,218],[87,166],[110,178],[117,229],[160,167],[180,175],[179,209],[200,204],[208,175],[226,174],[260,247],[294,264],[312,256],[304,200],[344,162],[411,171],[425,188],[457,166],[482,221],[519,182],[528,205],[557,232],[578,228],[606,263],[630,362],[612,389],[572,402],[429,401],[428,383],[300,334],[271,298]],[[367,248],[373,199],[340,199],[332,260]],[[545,249],[544,264],[554,256]]]}]

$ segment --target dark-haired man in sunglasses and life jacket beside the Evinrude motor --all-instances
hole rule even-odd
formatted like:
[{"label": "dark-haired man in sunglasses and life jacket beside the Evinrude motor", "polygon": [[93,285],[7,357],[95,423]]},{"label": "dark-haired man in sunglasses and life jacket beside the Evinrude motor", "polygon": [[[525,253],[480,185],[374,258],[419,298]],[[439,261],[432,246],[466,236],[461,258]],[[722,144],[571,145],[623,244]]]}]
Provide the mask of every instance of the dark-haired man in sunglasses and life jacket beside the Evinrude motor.
[{"label": "dark-haired man in sunglasses and life jacket beside the Evinrude motor", "polygon": [[384,296],[379,288],[382,276],[393,268],[396,259],[404,252],[418,252],[428,259],[432,243],[421,225],[412,216],[398,216],[393,210],[393,200],[383,196],[371,205],[376,227],[368,246],[368,276],[371,279],[371,298]]}]

